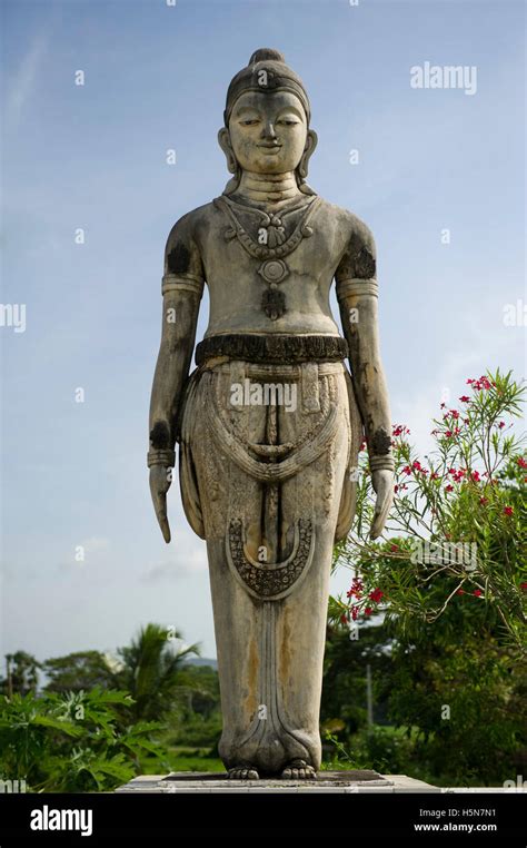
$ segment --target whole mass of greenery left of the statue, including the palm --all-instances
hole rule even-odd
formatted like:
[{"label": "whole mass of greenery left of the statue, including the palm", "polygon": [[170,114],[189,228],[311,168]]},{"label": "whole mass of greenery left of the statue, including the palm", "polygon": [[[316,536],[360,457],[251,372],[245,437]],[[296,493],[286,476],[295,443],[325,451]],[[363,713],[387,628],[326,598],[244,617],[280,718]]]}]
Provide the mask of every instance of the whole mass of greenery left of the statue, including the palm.
[{"label": "whole mass of greenery left of the statue, including the palm", "polygon": [[[177,739],[217,755],[218,674],[188,663],[198,647],[180,644],[173,628],[148,624],[117,657],[79,651],[39,663],[10,654],[0,683],[0,777],[26,780],[30,791],[108,791],[176,768]],[[39,669],[48,678],[40,693]],[[203,758],[197,768],[218,761]]]}]

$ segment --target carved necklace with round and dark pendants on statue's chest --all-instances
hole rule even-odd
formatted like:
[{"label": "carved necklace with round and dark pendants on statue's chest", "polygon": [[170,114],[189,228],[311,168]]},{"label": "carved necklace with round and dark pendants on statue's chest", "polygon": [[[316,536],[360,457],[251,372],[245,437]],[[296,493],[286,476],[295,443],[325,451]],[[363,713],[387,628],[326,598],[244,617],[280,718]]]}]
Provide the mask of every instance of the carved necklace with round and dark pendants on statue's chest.
[{"label": "carved necklace with round and dark pendants on statue's chest", "polygon": [[235,203],[235,200],[225,195],[215,200],[215,204],[228,215],[232,225],[225,230],[226,241],[238,238],[238,241],[250,256],[255,259],[264,259],[257,273],[268,286],[262,294],[261,309],[270,321],[277,321],[287,310],[286,295],[278,288],[278,284],[286,279],[289,274],[289,267],[284,257],[289,256],[298,247],[302,238],[309,238],[312,235],[312,228],[308,226],[308,220],[320,203],[320,197],[316,196],[306,205],[289,238],[286,238],[282,218],[297,211],[298,206],[294,209],[270,215],[261,209],[250,207],[250,211],[259,215],[261,218],[258,227],[258,240],[255,240],[235,211],[237,208],[247,210],[248,207]]}]

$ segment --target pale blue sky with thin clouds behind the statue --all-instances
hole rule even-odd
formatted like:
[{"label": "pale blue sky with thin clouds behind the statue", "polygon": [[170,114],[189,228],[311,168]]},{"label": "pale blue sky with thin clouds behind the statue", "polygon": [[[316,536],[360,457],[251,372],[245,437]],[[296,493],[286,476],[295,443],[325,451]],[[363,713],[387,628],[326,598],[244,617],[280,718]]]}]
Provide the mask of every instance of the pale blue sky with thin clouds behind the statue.
[{"label": "pale blue sky with thin clouds behind the statue", "polygon": [[[186,524],[177,484],[173,541],[163,543],[146,451],[165,241],[228,179],[216,140],[227,86],[258,47],[282,50],[302,77],[319,135],[309,183],[375,234],[392,420],[425,453],[445,390],[455,403],[466,377],[487,367],[525,375],[525,326],[503,321],[506,304],[526,300],[525,7],[1,9],[2,303],[26,304],[27,317],[23,333],[0,327],[0,653],[113,651],[157,621],[215,657],[205,543]],[[411,88],[410,68],[426,61],[476,66],[476,93]],[[206,324],[203,298],[198,337]]]}]

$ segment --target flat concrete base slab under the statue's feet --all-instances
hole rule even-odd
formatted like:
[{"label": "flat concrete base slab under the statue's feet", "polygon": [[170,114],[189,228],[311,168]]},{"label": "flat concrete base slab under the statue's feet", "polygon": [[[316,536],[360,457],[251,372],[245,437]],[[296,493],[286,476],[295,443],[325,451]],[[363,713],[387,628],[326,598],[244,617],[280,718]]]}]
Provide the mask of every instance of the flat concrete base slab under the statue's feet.
[{"label": "flat concrete base slab under the statue's feet", "polygon": [[175,771],[170,775],[141,775],[116,792],[266,792],[266,793],[356,793],[356,792],[440,792],[437,787],[406,775],[378,775],[377,771],[319,771],[316,780],[230,780],[226,772]]}]

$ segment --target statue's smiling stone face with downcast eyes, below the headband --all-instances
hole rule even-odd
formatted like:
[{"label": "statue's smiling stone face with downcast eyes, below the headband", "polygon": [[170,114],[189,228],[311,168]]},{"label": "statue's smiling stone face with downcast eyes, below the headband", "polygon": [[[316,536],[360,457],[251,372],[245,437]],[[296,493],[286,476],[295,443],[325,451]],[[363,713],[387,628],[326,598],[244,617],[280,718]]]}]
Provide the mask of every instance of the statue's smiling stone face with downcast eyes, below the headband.
[{"label": "statue's smiling stone face with downcast eyes, below the headband", "polygon": [[296,169],[306,148],[306,114],[289,91],[246,91],[235,103],[229,135],[243,170],[285,174]]}]

